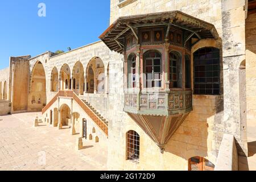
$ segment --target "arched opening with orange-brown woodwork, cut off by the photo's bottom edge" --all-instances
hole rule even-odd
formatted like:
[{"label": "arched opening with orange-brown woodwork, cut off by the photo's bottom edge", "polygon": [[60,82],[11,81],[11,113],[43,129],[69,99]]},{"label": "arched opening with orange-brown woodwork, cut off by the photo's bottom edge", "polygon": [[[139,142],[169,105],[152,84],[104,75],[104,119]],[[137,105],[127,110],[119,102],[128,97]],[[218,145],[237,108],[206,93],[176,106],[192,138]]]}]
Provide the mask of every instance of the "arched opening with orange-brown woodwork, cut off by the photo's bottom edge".
[{"label": "arched opening with orange-brown woodwork, cut off by the photo's bottom edge", "polygon": [[200,156],[188,160],[188,171],[214,171],[214,164]]}]

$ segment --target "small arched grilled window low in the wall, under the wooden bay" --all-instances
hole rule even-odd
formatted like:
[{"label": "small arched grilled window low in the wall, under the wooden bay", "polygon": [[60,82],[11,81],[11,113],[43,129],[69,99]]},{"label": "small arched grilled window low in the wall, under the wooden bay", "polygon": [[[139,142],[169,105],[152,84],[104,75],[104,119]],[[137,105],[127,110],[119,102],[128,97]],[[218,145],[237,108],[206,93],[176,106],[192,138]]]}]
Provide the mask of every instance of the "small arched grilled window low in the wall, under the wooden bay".
[{"label": "small arched grilled window low in the wall, under the wooden bay", "polygon": [[127,160],[139,163],[139,134],[133,130],[127,132]]}]

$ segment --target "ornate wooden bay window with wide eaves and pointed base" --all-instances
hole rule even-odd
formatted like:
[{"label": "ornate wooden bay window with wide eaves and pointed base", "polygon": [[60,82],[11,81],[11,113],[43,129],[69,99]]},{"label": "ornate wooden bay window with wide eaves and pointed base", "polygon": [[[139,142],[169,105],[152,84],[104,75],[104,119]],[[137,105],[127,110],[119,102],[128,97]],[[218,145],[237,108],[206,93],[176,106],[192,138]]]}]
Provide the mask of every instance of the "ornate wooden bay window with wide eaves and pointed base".
[{"label": "ornate wooden bay window with wide eaves and pointed base", "polygon": [[125,56],[124,110],[161,151],[192,110],[191,47],[207,38],[214,26],[180,11],[124,16],[100,36]]}]

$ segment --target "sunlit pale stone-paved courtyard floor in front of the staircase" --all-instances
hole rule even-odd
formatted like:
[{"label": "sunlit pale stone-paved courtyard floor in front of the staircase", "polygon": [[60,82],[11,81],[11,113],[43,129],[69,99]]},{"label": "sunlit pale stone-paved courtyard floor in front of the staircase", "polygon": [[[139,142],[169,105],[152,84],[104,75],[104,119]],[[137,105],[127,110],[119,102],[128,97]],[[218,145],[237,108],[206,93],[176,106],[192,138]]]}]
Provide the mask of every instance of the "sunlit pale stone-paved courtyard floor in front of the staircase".
[{"label": "sunlit pale stone-paved courtyard floor in front of the staircase", "polygon": [[75,150],[76,139],[69,129],[40,123],[32,127],[40,113],[0,116],[0,170],[106,170],[107,150],[100,143],[84,143]]}]

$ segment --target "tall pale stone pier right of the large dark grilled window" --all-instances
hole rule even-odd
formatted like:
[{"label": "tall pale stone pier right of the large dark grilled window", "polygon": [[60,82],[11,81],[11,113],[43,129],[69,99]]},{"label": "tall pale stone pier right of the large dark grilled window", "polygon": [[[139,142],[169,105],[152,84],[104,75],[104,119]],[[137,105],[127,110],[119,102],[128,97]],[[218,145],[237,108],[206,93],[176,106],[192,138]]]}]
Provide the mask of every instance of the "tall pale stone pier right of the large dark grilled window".
[{"label": "tall pale stone pier right of the large dark grilled window", "polygon": [[[241,112],[239,72],[245,60],[245,1],[222,0],[224,129],[236,138],[240,155],[247,155],[246,117]],[[245,110],[246,111],[246,110]]]}]

